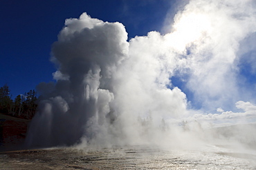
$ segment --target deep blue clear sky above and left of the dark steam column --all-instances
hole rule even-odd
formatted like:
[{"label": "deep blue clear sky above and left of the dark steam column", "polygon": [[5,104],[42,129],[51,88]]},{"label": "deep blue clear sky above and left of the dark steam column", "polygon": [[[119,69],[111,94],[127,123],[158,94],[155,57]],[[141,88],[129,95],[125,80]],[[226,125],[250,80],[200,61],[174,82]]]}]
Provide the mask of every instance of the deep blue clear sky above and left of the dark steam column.
[{"label": "deep blue clear sky above and left of the dark steam column", "polygon": [[[53,81],[56,68],[49,61],[65,19],[87,12],[102,21],[125,25],[129,38],[162,31],[176,1],[0,1],[0,85],[7,83],[12,97]],[[174,14],[174,12],[172,12]]]}]

